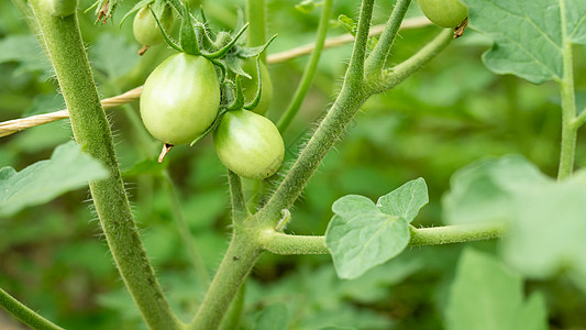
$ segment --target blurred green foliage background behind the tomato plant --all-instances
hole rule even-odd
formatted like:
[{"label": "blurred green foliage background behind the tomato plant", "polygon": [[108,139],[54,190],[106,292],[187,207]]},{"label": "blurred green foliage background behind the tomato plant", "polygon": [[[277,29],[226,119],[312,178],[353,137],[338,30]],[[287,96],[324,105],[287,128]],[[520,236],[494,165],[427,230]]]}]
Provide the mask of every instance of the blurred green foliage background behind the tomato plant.
[{"label": "blurred green foliage background behind the tomato plant", "polygon": [[[210,1],[212,2],[212,1]],[[384,23],[391,1],[378,1],[374,23]],[[306,14],[295,2],[270,0],[268,33],[278,33],[268,50],[278,53],[313,40],[320,10]],[[131,21],[120,19],[93,25],[92,12],[80,13],[80,25],[102,97],[142,85],[148,73],[173,52],[156,46],[142,57],[132,36]],[[90,6],[81,0],[80,8]],[[243,1],[204,3],[213,25],[235,24],[235,6]],[[358,1],[334,1],[329,35],[345,31],[335,18],[356,18]],[[420,15],[416,4],[408,16]],[[392,63],[414,53],[440,30],[427,26],[402,31]],[[343,141],[324,160],[292,210],[287,232],[323,234],[334,200],[360,194],[376,199],[403,183],[423,177],[430,204],[416,219],[417,227],[442,224],[441,198],[451,175],[486,156],[518,153],[555,176],[561,111],[553,84],[535,86],[512,76],[497,76],[482,64],[490,43],[467,31],[431,64],[394,91],[373,97],[354,119]],[[575,48],[578,102],[586,106],[586,59]],[[298,118],[285,134],[286,163],[290,163],[323,116],[340,87],[351,45],[323,52],[312,88]],[[269,66],[275,97],[267,117],[278,119],[286,109],[308,57]],[[10,1],[0,2],[0,121],[64,108],[48,61],[36,45]],[[176,312],[185,320],[203,295],[179,239],[173,206],[159,170],[152,166],[159,146],[133,121],[137,102],[108,110],[117,153],[125,172],[136,221],[158,277]],[[586,160],[584,132],[578,136],[577,164]],[[25,166],[51,156],[71,139],[67,121],[34,128],[0,141],[0,167]],[[212,141],[178,146],[166,163],[180,195],[196,245],[210,275],[226,248],[229,194],[225,169]],[[245,183],[245,189],[252,189]],[[247,190],[248,191],[248,190]],[[494,251],[491,242],[468,243]],[[329,256],[265,254],[248,280],[243,329],[254,329],[267,306],[284,302],[290,329],[325,326],[356,329],[442,329],[447,285],[464,244],[410,249],[400,257],[355,280],[339,280]],[[0,287],[34,310],[67,329],[143,329],[109,255],[87,189],[0,219]],[[567,278],[529,282],[527,289],[545,294],[552,329],[586,329],[586,296],[576,295]],[[0,311],[0,329],[19,329]]]}]

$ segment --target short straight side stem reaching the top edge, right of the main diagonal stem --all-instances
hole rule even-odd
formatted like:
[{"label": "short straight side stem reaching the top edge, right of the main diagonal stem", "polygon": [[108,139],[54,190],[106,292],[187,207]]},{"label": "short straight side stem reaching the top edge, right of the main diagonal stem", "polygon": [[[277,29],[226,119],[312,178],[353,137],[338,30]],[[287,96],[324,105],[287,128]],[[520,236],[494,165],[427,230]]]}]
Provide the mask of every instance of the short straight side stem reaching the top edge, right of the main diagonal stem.
[{"label": "short straight side stem reaching the top edge, right of the main diagonal stem", "polygon": [[395,42],[395,37],[399,32],[401,22],[407,13],[411,0],[398,0],[390,18],[385,26],[385,31],[378,38],[376,47],[373,50],[368,58],[366,58],[366,75],[378,77],[383,74],[383,68],[387,63],[387,57],[390,54],[390,48]]}]

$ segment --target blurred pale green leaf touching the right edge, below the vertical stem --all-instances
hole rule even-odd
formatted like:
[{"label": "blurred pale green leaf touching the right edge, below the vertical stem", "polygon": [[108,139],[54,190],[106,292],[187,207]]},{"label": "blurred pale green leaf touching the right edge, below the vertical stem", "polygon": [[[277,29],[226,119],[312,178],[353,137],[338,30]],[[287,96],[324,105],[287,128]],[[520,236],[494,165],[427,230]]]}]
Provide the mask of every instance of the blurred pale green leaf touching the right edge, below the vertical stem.
[{"label": "blurred pale green leaf touching the right edge, below the vertical stem", "polygon": [[505,258],[528,276],[561,270],[586,274],[586,172],[532,187],[516,197],[515,221],[502,242]]}]

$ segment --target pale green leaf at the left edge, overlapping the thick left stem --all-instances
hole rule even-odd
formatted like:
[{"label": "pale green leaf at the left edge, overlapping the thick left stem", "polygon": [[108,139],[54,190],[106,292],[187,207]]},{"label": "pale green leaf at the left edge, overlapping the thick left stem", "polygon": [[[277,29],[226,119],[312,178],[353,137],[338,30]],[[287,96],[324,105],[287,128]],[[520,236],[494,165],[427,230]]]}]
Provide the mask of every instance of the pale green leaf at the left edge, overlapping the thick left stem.
[{"label": "pale green leaf at the left edge, overlapping the thick left stem", "polygon": [[55,148],[51,160],[37,162],[16,173],[0,169],[0,217],[52,200],[60,194],[80,188],[89,180],[108,175],[104,167],[68,142]]}]

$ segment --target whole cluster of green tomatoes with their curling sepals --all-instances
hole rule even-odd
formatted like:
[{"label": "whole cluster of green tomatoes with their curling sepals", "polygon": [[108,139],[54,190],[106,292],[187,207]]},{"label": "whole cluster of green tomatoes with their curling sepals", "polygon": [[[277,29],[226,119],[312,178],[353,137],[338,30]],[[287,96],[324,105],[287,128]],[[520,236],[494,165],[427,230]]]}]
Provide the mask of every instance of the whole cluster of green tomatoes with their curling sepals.
[{"label": "whole cluster of green tomatoes with their curling sepals", "polygon": [[[162,13],[164,21],[144,7],[134,19],[134,34],[143,45],[165,40],[181,51],[151,73],[141,96],[141,118],[148,132],[164,144],[159,162],[174,145],[194,144],[212,133],[215,152],[230,170],[251,179],[275,174],[285,146],[275,124],[262,116],[273,94],[268,70],[258,61],[268,43],[254,50],[236,46],[244,25],[234,36],[219,34],[215,42],[208,42],[208,50],[202,50],[206,40],[198,40],[194,30],[201,29],[200,37],[208,40],[212,34],[204,24],[192,24],[194,18],[184,8],[183,20],[188,24],[183,24],[180,45],[176,45],[166,35],[173,22],[170,8],[164,7]],[[237,56],[237,64],[228,56]],[[244,84],[240,81],[242,76]]]}]

